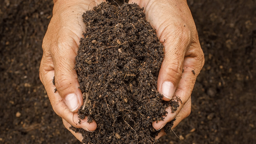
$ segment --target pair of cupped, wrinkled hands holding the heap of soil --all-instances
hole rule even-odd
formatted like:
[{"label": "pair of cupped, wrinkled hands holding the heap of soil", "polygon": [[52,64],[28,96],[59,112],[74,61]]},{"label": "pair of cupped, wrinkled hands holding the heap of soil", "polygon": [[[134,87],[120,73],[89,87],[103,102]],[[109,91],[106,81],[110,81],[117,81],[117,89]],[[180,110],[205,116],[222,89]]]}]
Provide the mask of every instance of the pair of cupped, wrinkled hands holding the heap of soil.
[{"label": "pair of cupped, wrinkled hands holding the heap of soil", "polygon": [[[105,0],[55,0],[52,19],[43,40],[44,50],[40,66],[40,79],[45,86],[53,110],[61,116],[64,126],[72,125],[87,131],[96,130],[97,124],[87,123],[87,118],[79,124],[78,109],[83,98],[74,70],[75,57],[85,24],[82,14]],[[204,65],[204,53],[186,0],[130,0],[144,7],[146,19],[156,29],[160,41],[165,41],[165,57],[159,72],[157,87],[169,101],[174,95],[183,104],[176,112],[168,112],[164,121],[153,122],[156,130],[161,130],[157,139],[163,136],[164,125],[176,117],[174,127],[191,111],[191,92],[196,77]],[[55,76],[55,86],[52,78]],[[58,89],[54,92],[55,87]],[[80,141],[81,134],[70,132]]]}]

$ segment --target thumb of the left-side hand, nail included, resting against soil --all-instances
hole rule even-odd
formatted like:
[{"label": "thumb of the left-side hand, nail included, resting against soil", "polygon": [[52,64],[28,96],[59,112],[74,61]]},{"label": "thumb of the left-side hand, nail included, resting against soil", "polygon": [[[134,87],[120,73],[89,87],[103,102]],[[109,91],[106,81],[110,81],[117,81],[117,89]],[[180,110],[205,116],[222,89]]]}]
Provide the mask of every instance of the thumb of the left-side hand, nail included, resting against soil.
[{"label": "thumb of the left-side hand, nail included, resting against soil", "polygon": [[52,52],[55,86],[70,111],[77,112],[83,103],[76,70],[74,69],[78,45],[74,40],[65,41],[71,43],[58,43],[57,48]]}]

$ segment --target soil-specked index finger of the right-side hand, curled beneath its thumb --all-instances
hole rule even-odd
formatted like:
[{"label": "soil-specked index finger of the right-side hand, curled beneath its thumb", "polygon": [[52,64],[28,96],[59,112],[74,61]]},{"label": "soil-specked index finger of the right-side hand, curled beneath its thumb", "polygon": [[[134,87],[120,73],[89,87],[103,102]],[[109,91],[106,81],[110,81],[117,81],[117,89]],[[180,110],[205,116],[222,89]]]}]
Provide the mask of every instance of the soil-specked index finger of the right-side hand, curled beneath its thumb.
[{"label": "soil-specked index finger of the right-side hand, curled beneath its thumb", "polygon": [[[187,54],[185,55],[182,78],[180,79],[180,82],[175,91],[175,96],[180,98],[182,103],[180,102],[180,106],[175,112],[172,112],[170,107],[166,109],[168,114],[165,119],[163,121],[159,121],[158,123],[153,123],[153,127],[156,128],[156,130],[163,127],[167,122],[172,121],[183,108],[184,104],[191,103],[187,101],[191,101],[190,96],[194,88],[196,78],[200,73],[203,65],[204,57],[202,56],[201,47],[198,45],[194,46],[194,44],[192,44],[192,46],[190,46],[188,49]],[[188,109],[189,111],[186,114],[190,113],[190,109]]]}]

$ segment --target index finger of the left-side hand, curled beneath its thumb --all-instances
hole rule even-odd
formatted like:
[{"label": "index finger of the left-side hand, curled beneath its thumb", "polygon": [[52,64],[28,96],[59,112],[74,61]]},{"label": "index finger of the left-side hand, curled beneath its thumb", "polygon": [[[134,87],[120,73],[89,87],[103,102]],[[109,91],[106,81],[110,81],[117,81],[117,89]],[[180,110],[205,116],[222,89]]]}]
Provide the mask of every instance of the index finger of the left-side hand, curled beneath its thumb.
[{"label": "index finger of the left-side hand, curled beneath its thumb", "polygon": [[[55,86],[52,84],[52,78],[54,76],[54,70],[48,71],[45,75],[42,75],[42,80],[44,81],[44,86],[47,91],[47,95],[52,104],[52,108],[57,115],[64,118],[73,127],[82,128],[87,131],[96,130],[97,124],[95,121],[92,123],[87,122],[87,117],[83,120],[78,118],[77,112],[70,112],[67,105],[64,103],[63,98],[59,95],[58,91],[54,92]],[[79,121],[80,124],[79,124]]]}]

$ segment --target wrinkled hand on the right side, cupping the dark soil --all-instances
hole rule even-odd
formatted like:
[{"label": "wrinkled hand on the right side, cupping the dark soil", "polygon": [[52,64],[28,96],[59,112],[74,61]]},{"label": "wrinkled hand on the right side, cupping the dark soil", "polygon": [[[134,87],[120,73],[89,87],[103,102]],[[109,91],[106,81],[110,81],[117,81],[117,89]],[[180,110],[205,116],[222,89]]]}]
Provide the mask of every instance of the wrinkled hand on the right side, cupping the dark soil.
[{"label": "wrinkled hand on the right side, cupping the dark soil", "polygon": [[[174,96],[182,101],[177,111],[167,108],[163,121],[153,122],[156,130],[176,118],[176,127],[191,112],[191,93],[204,65],[195,23],[186,0],[130,0],[144,7],[146,19],[163,42],[165,57],[158,75],[157,89],[169,101]],[[178,117],[176,117],[178,115]],[[157,139],[165,134],[162,129]]]}]

